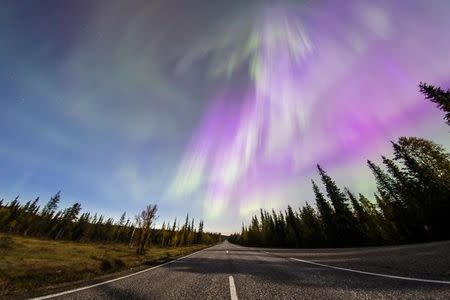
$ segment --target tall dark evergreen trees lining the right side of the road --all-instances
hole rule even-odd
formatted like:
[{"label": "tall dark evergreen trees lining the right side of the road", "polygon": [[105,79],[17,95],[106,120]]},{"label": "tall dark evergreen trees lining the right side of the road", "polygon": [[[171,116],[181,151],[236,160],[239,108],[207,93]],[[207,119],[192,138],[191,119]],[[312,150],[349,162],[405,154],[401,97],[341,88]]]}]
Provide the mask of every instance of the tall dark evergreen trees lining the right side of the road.
[{"label": "tall dark evergreen trees lining the right side of the road", "polygon": [[[450,126],[450,91],[421,83],[426,99],[446,114]],[[367,165],[377,191],[369,200],[340,188],[317,165],[324,189],[312,181],[316,206],[294,211],[260,210],[229,240],[249,246],[350,247],[450,239],[450,154],[418,137],[391,142],[393,157]]]}]

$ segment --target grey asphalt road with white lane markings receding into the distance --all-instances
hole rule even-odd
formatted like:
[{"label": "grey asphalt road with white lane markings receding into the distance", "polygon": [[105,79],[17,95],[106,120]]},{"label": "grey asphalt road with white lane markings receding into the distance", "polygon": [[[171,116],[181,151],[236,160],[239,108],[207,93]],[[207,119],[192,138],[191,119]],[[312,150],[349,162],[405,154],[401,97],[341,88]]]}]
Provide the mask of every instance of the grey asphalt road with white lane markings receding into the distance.
[{"label": "grey asphalt road with white lane markings receding into the distance", "polygon": [[224,242],[54,299],[450,299],[450,242],[310,250]]}]

